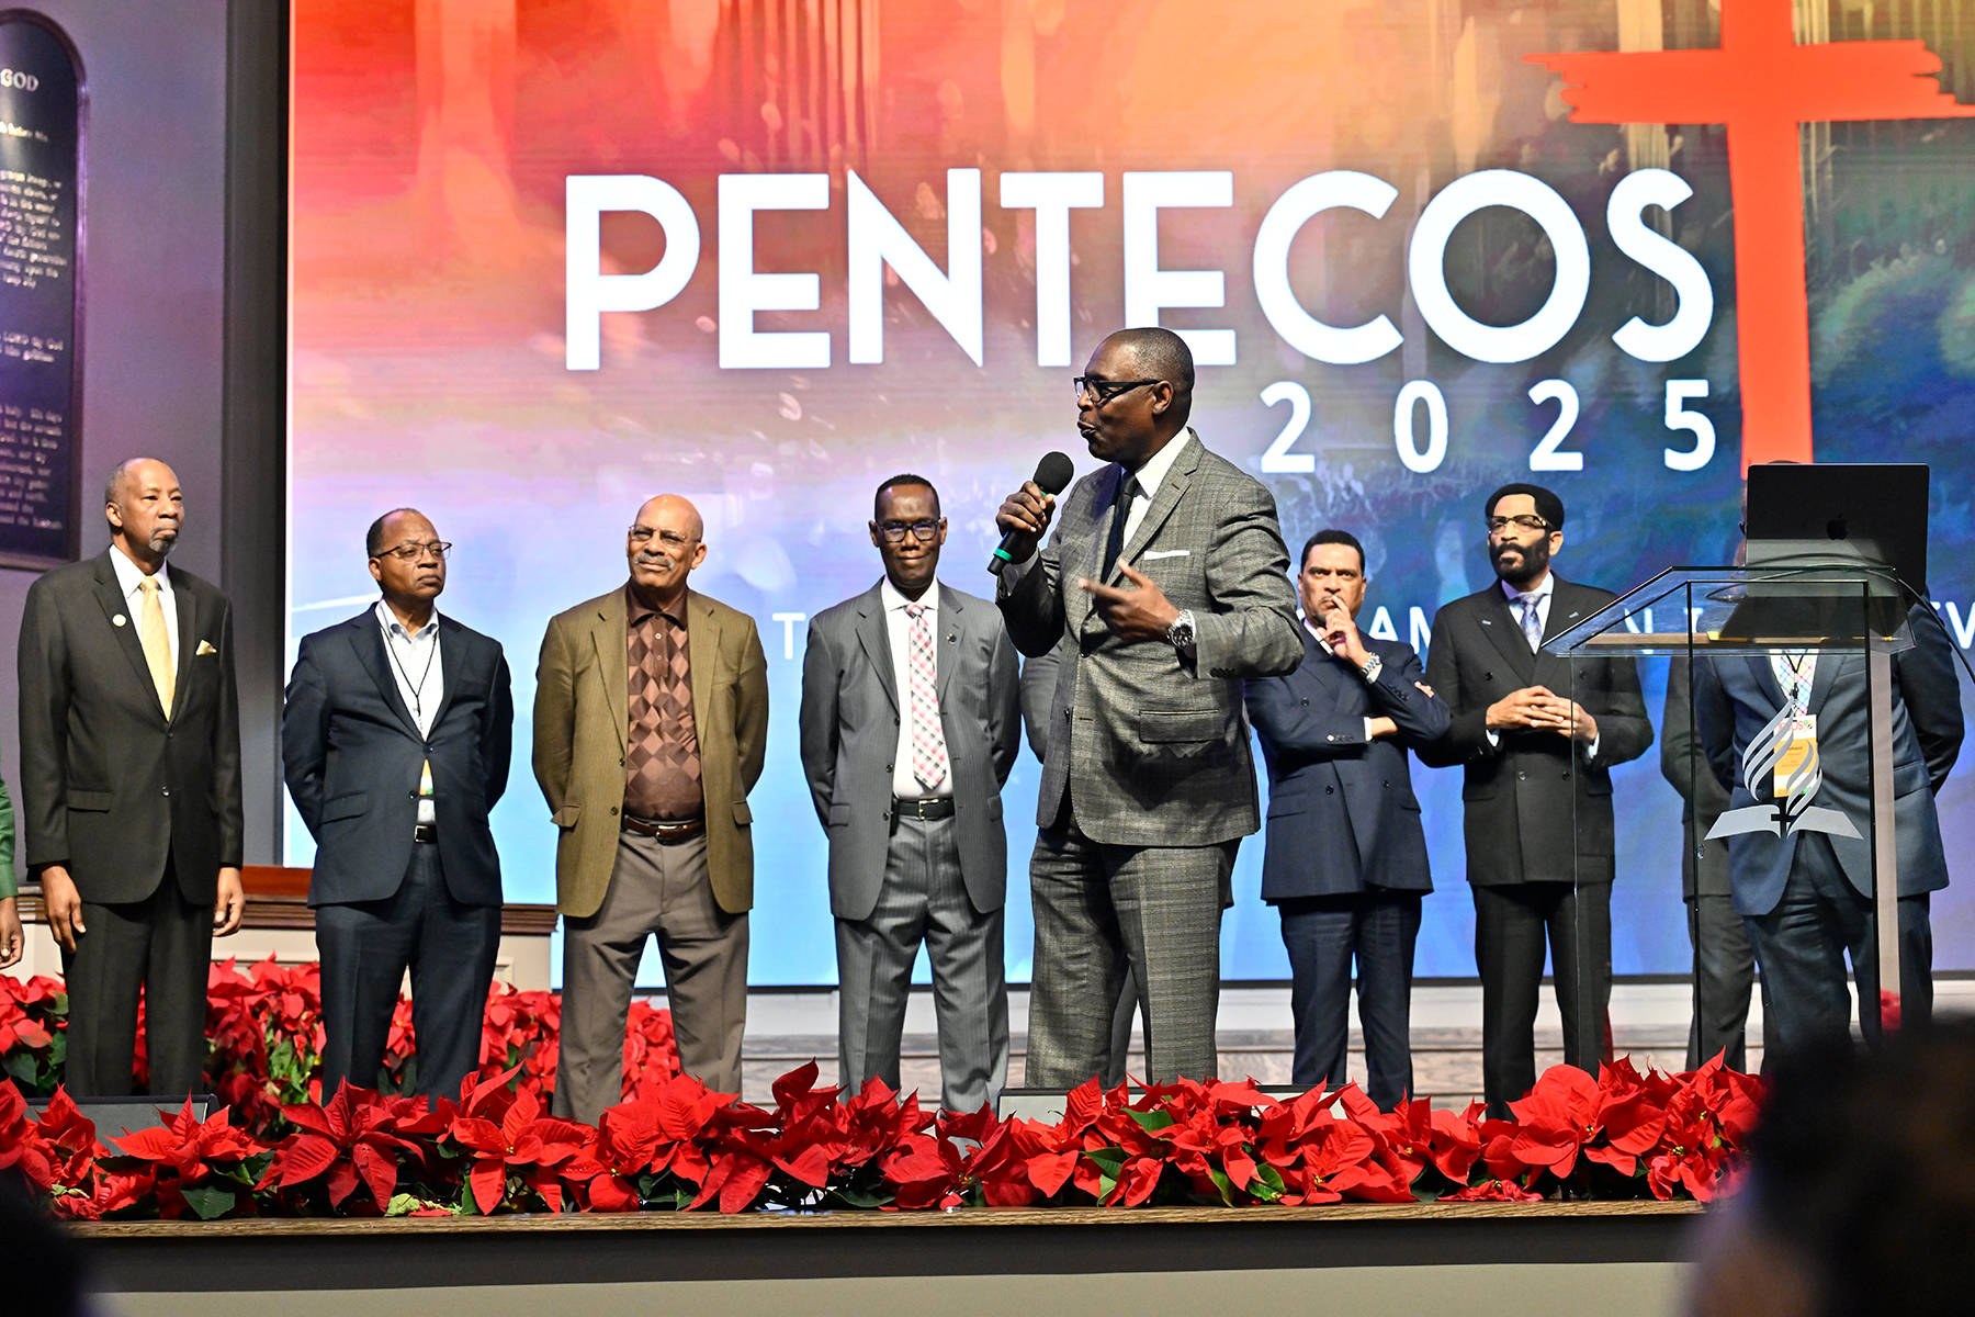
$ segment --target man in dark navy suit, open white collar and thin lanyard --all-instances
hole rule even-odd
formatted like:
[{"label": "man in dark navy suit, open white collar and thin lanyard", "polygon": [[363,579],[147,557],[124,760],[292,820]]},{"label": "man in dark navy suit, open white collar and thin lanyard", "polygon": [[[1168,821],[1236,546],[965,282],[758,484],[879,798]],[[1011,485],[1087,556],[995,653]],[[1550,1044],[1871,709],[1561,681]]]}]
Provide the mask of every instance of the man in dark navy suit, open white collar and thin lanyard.
[{"label": "man in dark navy suit, open white collar and thin lanyard", "polygon": [[377,1084],[411,969],[417,1088],[452,1096],[480,1068],[500,948],[488,812],[508,790],[514,697],[498,642],[440,616],[452,545],[399,507],[369,527],[375,606],[304,636],[280,750],[310,835],[322,956],[322,1096]]}]

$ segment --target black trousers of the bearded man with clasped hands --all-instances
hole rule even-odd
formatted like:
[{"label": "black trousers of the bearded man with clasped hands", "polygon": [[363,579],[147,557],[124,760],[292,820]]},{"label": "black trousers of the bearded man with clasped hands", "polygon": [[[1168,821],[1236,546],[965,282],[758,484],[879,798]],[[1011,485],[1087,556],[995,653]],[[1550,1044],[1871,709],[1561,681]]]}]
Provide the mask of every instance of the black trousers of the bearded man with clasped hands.
[{"label": "black trousers of the bearded man with clasped hands", "polygon": [[1537,997],[1548,942],[1564,1062],[1598,1074],[1612,1001],[1612,885],[1515,883],[1475,887],[1475,966],[1481,969],[1481,1088],[1487,1114],[1537,1086]]}]

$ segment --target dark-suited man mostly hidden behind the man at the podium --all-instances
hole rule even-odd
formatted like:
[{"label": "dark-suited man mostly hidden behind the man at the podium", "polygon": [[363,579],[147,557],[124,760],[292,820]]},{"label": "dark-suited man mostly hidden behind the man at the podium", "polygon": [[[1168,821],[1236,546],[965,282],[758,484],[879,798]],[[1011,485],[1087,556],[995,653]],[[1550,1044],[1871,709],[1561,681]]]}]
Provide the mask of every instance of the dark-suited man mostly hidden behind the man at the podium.
[{"label": "dark-suited man mostly hidden behind the man at the podium", "polygon": [[1687,940],[1695,948],[1687,1068],[1722,1052],[1728,1068],[1748,1070],[1748,997],[1756,985],[1756,952],[1748,942],[1748,924],[1734,910],[1728,841],[1708,839],[1714,819],[1728,808],[1728,788],[1714,778],[1714,766],[1695,735],[1693,679],[1685,656],[1667,665],[1659,776],[1681,794],[1681,896],[1687,902]]}]

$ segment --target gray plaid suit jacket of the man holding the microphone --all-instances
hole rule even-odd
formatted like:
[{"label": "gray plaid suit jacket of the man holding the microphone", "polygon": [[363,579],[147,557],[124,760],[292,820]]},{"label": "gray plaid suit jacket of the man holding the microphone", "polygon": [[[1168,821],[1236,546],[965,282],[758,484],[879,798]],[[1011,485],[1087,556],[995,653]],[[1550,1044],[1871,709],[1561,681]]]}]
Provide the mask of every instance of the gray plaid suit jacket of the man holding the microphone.
[{"label": "gray plaid suit jacket of the man holding the microphone", "polygon": [[[1280,677],[1304,661],[1276,500],[1187,428],[1187,446],[1118,561],[1193,610],[1189,659],[1163,642],[1118,640],[1076,588],[1102,567],[1122,484],[1116,462],[1078,480],[1037,561],[1013,584],[1001,579],[997,602],[1017,650],[1041,658],[1072,638],[1057,667],[1035,821],[1057,821],[1074,780],[1070,808],[1092,841],[1197,847],[1246,837],[1260,810],[1242,679]],[[1110,584],[1120,582],[1114,569]]]}]

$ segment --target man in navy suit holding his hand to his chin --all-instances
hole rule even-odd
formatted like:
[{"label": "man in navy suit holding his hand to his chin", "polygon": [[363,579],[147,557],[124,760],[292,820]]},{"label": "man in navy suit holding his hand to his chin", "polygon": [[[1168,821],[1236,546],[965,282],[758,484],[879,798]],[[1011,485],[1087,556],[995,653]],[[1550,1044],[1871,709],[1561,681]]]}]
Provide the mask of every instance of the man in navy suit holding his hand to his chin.
[{"label": "man in navy suit holding his hand to his chin", "polygon": [[1384,1110],[1412,1092],[1412,946],[1434,891],[1406,748],[1448,731],[1412,646],[1359,634],[1365,547],[1317,531],[1296,577],[1304,665],[1248,683],[1268,760],[1262,900],[1282,914],[1302,1088],[1341,1088],[1351,1033],[1351,962],[1365,1025],[1367,1096]]}]

